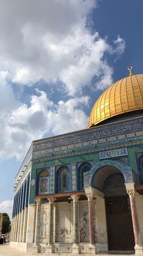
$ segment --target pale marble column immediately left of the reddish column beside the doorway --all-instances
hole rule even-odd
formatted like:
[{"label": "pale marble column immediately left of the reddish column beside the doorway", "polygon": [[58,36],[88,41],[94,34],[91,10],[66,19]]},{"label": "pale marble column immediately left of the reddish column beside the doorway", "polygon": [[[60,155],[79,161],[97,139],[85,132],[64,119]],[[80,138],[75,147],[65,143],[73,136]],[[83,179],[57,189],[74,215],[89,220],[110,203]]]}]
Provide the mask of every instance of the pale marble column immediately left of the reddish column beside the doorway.
[{"label": "pale marble column immediately left of the reddish column beside the doorway", "polygon": [[73,199],[73,252],[79,253],[79,196],[74,194],[71,198]]}]

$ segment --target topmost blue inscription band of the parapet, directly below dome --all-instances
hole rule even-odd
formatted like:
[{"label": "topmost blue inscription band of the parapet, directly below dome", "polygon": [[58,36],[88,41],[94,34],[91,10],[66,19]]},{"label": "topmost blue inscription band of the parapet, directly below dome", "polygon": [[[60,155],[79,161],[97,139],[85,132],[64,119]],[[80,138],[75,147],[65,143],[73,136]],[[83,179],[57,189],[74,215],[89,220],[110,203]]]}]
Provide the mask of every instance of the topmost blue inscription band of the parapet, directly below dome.
[{"label": "topmost blue inscription band of the parapet, directly below dome", "polygon": [[[133,132],[138,132],[143,129],[142,117],[137,119],[132,119],[130,121],[124,121],[124,123],[118,124],[107,124],[107,126],[102,129],[101,127],[95,127],[91,129],[81,130],[78,132],[67,133],[65,135],[59,135],[52,138],[47,138],[41,141],[35,141],[33,143],[33,151],[39,149],[48,149],[59,147],[59,145],[71,144],[71,143],[80,143],[79,146],[82,146],[81,142],[86,140],[96,140],[103,137],[110,137],[113,135],[120,135],[122,133],[128,133],[128,136],[132,136]],[[135,134],[135,133],[134,133]],[[135,135],[134,135],[135,136]]]}]

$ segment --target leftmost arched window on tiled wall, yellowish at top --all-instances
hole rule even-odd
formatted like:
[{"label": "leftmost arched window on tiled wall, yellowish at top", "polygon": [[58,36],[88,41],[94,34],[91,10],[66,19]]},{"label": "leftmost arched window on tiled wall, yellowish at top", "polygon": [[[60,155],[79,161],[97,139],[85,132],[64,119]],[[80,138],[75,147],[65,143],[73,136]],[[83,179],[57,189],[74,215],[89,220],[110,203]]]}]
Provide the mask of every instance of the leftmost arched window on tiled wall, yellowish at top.
[{"label": "leftmost arched window on tiled wall, yellowish at top", "polygon": [[48,194],[49,174],[48,171],[42,170],[38,175],[38,194]]}]

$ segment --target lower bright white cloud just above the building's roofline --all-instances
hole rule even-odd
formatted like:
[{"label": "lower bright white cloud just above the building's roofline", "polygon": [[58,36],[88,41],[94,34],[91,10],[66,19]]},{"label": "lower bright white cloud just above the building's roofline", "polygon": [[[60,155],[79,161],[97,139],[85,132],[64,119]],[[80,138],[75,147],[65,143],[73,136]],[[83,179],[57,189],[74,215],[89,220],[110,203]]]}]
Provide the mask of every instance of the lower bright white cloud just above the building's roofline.
[{"label": "lower bright white cloud just above the building's roofline", "polygon": [[[65,133],[87,127],[88,118],[82,110],[88,96],[71,98],[54,104],[44,91],[36,90],[30,105],[21,104],[7,113],[0,123],[0,158],[24,157],[32,140],[45,133]],[[4,136],[6,134],[7,136]]]}]

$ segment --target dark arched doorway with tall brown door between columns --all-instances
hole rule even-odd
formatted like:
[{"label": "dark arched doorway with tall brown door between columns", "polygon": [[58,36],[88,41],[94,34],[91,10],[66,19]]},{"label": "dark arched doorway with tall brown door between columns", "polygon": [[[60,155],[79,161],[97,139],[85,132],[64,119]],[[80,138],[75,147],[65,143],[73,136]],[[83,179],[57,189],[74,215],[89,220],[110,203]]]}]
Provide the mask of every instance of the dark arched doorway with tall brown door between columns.
[{"label": "dark arched doorway with tall brown door between columns", "polygon": [[92,179],[93,187],[104,192],[108,251],[133,251],[135,239],[130,199],[124,177],[115,166],[104,166]]}]

